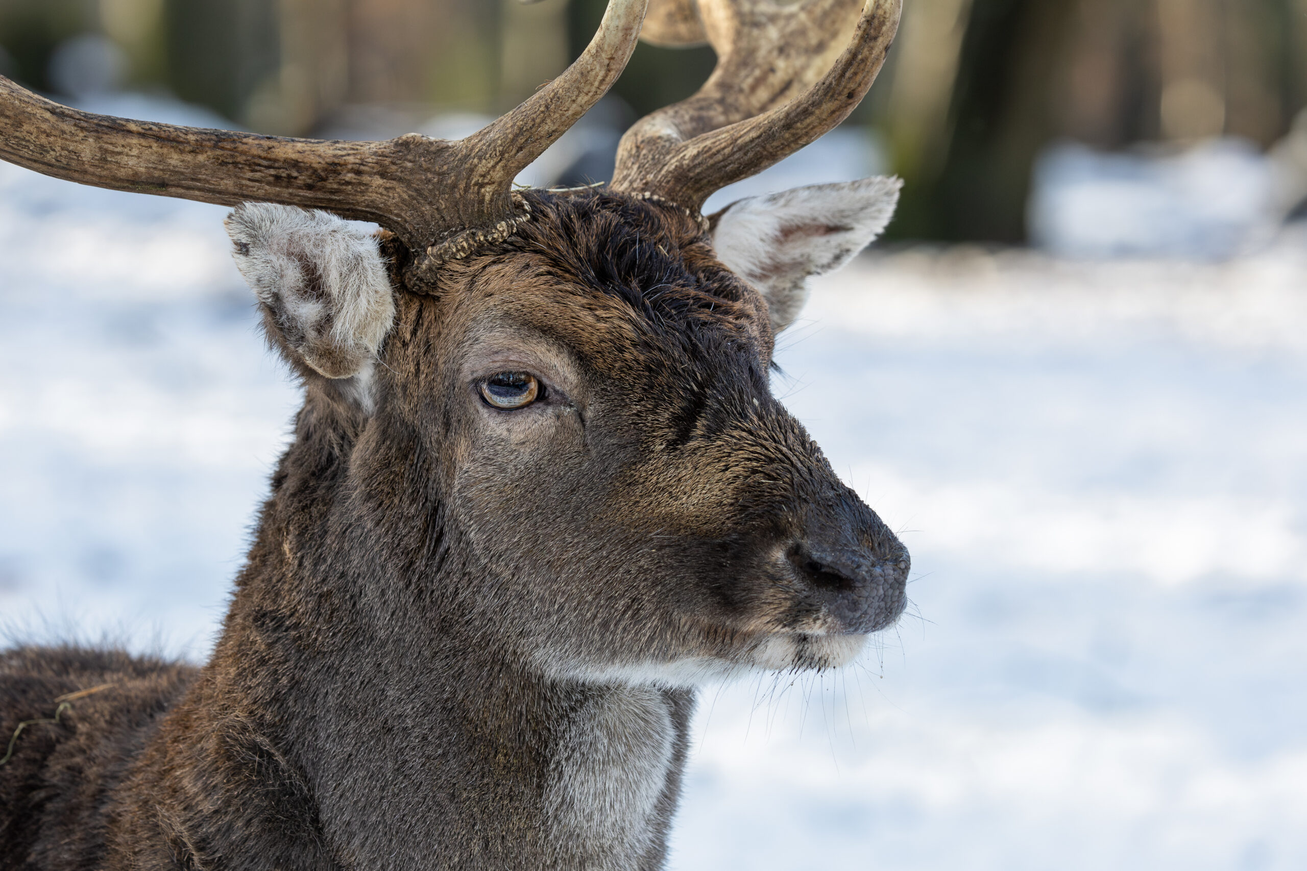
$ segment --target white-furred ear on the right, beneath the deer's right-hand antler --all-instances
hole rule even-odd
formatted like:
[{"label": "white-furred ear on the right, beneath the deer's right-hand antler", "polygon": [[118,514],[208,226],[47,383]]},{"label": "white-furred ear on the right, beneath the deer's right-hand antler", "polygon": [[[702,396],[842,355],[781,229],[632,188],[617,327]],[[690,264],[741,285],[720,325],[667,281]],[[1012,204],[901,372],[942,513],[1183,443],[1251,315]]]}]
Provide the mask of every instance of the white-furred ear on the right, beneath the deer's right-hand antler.
[{"label": "white-furred ear on the right, beneath the deer's right-hand antler", "polygon": [[718,260],[767,300],[779,333],[808,302],[808,277],[839,269],[894,217],[897,178],[813,184],[737,200],[708,218]]}]

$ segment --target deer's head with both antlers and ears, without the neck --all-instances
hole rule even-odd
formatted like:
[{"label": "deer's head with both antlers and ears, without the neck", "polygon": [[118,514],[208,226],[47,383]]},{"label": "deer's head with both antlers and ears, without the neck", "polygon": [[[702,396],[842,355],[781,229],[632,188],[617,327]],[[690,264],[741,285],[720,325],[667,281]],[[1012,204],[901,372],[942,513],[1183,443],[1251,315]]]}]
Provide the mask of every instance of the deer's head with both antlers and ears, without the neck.
[{"label": "deer's head with both antlers and ears, without the neck", "polygon": [[[644,21],[646,0],[610,0],[565,73],[461,141],[149,124],[0,78],[0,157],[237,206],[237,264],[306,389],[256,545],[269,560],[363,578],[378,601],[399,595],[382,578],[435,589],[405,607],[457,614],[559,678],[836,666],[901,614],[908,556],[769,370],[808,276],[884,229],[898,183],[701,206],[848,115],[899,0],[651,5]],[[514,191],[642,22],[655,42],[710,42],[712,77],[626,133],[606,187]],[[333,554],[332,530],[366,552]]]}]

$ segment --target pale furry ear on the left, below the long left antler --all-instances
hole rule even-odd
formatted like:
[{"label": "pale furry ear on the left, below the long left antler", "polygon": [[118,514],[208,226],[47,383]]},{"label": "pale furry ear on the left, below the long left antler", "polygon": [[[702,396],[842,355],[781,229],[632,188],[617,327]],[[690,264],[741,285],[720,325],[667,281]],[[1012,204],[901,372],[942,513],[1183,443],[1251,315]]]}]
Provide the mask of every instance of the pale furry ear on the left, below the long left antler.
[{"label": "pale furry ear on the left, below the long left antler", "polygon": [[325,212],[267,202],[238,206],[226,227],[273,343],[329,379],[370,367],[395,323],[374,236]]}]

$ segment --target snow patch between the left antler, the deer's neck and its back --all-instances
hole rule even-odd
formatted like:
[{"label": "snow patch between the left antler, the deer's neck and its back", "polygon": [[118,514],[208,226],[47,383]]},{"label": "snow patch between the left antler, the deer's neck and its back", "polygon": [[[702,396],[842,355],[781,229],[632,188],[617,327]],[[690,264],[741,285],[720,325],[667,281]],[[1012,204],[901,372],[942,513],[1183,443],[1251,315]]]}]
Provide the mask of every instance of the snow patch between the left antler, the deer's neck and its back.
[{"label": "snow patch between the left antler, the deer's neck and its back", "polygon": [[17,632],[209,644],[295,406],[225,212],[0,163],[0,612]]}]

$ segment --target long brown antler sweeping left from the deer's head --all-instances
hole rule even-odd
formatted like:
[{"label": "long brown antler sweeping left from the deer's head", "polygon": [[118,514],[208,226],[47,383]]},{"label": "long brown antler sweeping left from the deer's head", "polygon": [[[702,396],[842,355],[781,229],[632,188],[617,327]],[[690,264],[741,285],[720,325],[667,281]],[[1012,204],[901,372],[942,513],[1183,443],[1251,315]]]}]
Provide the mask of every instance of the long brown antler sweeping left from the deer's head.
[{"label": "long brown antler sweeping left from the deer's head", "polygon": [[81,112],[0,77],[0,159],[116,191],[327,209],[420,249],[511,218],[512,179],[599,102],[635,48],[647,0],[609,0],[589,46],[521,106],[461,141],[408,133],[324,142]]}]

